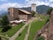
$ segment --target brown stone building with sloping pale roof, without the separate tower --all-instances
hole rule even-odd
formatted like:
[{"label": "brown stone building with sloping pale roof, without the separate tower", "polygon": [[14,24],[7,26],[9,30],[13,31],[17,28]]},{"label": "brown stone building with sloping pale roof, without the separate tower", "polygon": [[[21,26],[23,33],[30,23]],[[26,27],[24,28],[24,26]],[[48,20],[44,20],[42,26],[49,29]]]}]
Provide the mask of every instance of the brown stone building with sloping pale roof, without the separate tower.
[{"label": "brown stone building with sloping pale roof, without the separate tower", "polygon": [[17,8],[9,8],[9,19],[10,20],[28,20],[31,17],[31,13],[25,10],[17,9]]}]

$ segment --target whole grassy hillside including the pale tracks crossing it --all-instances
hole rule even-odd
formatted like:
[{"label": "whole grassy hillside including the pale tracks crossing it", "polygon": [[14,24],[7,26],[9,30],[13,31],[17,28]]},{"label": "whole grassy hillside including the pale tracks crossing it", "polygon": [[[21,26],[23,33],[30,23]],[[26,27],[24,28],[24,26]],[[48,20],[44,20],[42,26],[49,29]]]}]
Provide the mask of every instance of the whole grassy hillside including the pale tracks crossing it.
[{"label": "whole grassy hillside including the pale tracks crossing it", "polygon": [[[15,38],[15,40],[24,40],[26,34],[28,34],[28,36],[27,36],[28,40],[33,40],[36,32],[38,30],[40,30],[45,25],[46,21],[48,20],[48,16],[36,14],[36,17],[34,17],[34,18],[35,19],[33,19],[32,22],[30,21],[29,24],[27,23],[25,28],[23,26],[24,23],[16,25],[16,26],[12,27],[11,29],[9,29],[7,32],[4,32],[4,33],[2,32],[2,28],[0,28],[0,35],[2,36],[3,39],[8,39],[8,38],[11,38],[13,35],[16,34],[17,37],[15,37],[16,35],[13,36],[13,38]],[[20,29],[22,30],[21,32],[20,32]],[[29,30],[29,33],[28,33],[28,30]]]}]

